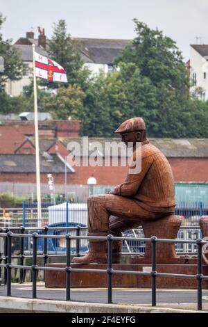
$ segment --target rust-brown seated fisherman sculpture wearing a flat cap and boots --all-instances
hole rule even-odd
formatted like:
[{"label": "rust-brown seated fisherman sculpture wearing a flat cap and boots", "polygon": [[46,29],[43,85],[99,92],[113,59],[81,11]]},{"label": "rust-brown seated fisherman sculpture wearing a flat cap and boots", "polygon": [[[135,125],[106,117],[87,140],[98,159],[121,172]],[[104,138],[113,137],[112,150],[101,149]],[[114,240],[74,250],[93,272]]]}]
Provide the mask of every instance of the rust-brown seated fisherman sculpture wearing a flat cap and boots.
[{"label": "rust-brown seated fisherman sculpture wearing a flat cap and boots", "polygon": [[[116,129],[121,140],[141,142],[141,171],[128,173],[125,181],[113,191],[87,199],[89,236],[121,236],[121,232],[137,228],[141,221],[153,221],[173,214],[175,208],[174,180],[171,166],[164,154],[146,138],[142,118],[126,120]],[[113,262],[121,262],[121,241],[113,241]],[[90,240],[89,251],[74,257],[73,263],[106,263],[106,241]]]}]

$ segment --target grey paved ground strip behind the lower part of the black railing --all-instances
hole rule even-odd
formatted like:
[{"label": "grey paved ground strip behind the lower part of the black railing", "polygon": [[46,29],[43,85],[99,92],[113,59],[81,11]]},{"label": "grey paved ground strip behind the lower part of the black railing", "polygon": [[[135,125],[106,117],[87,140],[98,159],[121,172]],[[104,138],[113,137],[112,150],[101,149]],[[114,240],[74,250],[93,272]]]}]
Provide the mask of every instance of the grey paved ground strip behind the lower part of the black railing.
[{"label": "grey paved ground strip behind the lower part of the black railing", "polygon": [[[0,286],[0,296],[6,296],[6,287]],[[32,298],[31,283],[12,284],[12,296]],[[44,283],[37,285],[37,298],[65,300],[65,289],[46,289]],[[72,289],[71,301],[107,303],[107,289]],[[150,289],[114,289],[113,303],[148,304],[151,303]],[[197,303],[197,292],[194,289],[159,289],[157,303]],[[203,303],[208,303],[208,290],[203,292]],[[207,305],[206,305],[207,307]]]}]

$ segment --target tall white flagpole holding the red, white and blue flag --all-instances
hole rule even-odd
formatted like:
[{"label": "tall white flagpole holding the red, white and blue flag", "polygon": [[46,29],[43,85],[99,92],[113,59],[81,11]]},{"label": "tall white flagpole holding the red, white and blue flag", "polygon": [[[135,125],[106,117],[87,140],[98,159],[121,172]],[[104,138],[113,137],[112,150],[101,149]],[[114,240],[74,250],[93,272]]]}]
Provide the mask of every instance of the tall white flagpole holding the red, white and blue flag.
[{"label": "tall white flagpole holding the red, white and blue flag", "polygon": [[35,113],[35,162],[36,162],[36,186],[37,186],[37,226],[41,227],[41,191],[40,191],[40,150],[38,135],[38,114],[37,114],[37,81],[35,74],[35,45],[33,44],[33,87],[34,87],[34,113]]}]

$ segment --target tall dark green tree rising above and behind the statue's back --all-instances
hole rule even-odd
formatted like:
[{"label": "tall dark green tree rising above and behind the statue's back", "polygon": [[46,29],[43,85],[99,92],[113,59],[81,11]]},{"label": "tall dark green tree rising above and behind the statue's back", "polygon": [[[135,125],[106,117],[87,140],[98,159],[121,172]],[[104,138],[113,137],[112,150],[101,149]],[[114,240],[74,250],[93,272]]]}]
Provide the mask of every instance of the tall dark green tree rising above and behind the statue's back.
[{"label": "tall dark green tree rising above and behind the statue's back", "polygon": [[[134,22],[137,36],[116,63],[134,63],[153,88],[154,115],[144,113],[150,136],[182,137],[189,118],[189,74],[182,54],[175,41],[162,31],[150,29],[137,19]],[[144,93],[144,97],[148,95]]]}]

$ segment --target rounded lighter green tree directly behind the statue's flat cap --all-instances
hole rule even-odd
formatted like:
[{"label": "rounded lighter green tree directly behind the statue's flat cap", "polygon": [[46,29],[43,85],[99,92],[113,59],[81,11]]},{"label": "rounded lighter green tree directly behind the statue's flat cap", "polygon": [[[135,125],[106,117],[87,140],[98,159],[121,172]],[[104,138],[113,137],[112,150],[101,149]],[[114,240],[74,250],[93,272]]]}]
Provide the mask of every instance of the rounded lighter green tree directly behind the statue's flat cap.
[{"label": "rounded lighter green tree directly behind the statue's flat cap", "polygon": [[[134,63],[121,63],[118,71],[101,74],[89,83],[86,94],[84,135],[115,136],[114,130],[125,119],[155,118],[155,89]],[[149,128],[155,129],[154,119]]]}]

